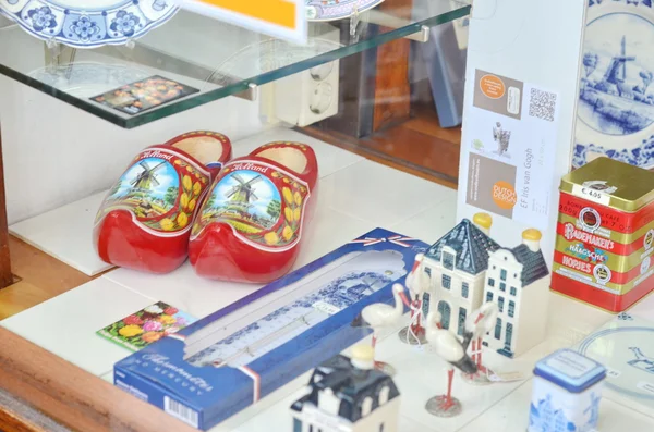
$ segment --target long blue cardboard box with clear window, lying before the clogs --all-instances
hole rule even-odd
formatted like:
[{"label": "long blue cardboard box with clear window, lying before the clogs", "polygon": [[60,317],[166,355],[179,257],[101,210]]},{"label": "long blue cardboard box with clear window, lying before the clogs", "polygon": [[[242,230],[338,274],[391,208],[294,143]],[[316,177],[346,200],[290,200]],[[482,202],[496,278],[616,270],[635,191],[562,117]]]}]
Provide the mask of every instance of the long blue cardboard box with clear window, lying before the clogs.
[{"label": "long blue cardboard box with clear window, lying before the clogs", "polygon": [[114,365],[114,384],[203,430],[336,356],[372,330],[428,245],[376,229]]}]

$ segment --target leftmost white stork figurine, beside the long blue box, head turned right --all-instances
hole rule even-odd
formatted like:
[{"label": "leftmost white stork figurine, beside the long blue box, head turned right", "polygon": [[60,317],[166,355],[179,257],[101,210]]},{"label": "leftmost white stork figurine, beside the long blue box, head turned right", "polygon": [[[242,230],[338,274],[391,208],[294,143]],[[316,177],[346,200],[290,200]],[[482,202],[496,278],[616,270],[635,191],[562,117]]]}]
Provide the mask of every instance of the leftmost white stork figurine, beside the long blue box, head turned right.
[{"label": "leftmost white stork figurine, beside the long blue box, head turned right", "polygon": [[[404,294],[404,287],[401,284],[392,285],[392,297],[395,299],[395,305],[391,306],[385,303],[368,305],[363,308],[361,316],[359,316],[353,323],[355,326],[367,325],[373,329],[373,349],[375,349],[377,345],[379,331],[384,328],[392,326],[400,320],[400,317],[402,317],[402,313],[404,312],[404,305],[410,307],[407,295]],[[390,366],[382,361],[375,361],[375,368],[383,369],[387,373],[392,374]]]}]

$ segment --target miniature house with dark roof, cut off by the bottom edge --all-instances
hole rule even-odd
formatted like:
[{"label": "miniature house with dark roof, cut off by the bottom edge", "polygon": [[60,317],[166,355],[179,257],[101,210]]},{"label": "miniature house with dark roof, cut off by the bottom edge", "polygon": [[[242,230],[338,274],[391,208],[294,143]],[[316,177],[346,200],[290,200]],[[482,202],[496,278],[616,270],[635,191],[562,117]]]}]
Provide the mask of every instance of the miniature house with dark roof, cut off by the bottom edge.
[{"label": "miniature house with dark roof, cut off by the bottom edge", "polygon": [[316,368],[308,394],[291,406],[292,432],[397,432],[400,393],[374,369],[374,350],[360,345]]}]

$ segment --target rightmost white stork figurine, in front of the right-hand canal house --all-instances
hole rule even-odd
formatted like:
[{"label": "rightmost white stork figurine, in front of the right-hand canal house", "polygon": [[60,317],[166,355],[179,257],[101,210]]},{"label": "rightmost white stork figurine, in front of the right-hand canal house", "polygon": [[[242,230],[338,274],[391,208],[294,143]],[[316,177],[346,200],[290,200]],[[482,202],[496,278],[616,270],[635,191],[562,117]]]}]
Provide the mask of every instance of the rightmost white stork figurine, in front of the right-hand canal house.
[{"label": "rightmost white stork figurine, in front of the right-hand canal house", "polygon": [[463,379],[472,384],[489,384],[488,370],[482,362],[483,341],[497,322],[499,309],[497,304],[487,301],[473,311],[465,320],[465,332],[472,333],[471,354],[477,371],[474,374],[463,374]]}]

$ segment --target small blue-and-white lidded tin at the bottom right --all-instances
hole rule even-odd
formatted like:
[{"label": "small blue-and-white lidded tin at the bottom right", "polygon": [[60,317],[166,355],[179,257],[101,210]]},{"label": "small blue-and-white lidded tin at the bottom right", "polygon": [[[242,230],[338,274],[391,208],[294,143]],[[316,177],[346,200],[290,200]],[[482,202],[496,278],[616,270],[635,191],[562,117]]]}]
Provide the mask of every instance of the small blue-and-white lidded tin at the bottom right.
[{"label": "small blue-and-white lidded tin at the bottom right", "polygon": [[536,363],[528,432],[591,432],[597,427],[606,368],[571,349]]}]

